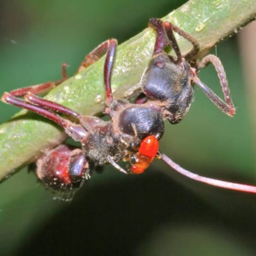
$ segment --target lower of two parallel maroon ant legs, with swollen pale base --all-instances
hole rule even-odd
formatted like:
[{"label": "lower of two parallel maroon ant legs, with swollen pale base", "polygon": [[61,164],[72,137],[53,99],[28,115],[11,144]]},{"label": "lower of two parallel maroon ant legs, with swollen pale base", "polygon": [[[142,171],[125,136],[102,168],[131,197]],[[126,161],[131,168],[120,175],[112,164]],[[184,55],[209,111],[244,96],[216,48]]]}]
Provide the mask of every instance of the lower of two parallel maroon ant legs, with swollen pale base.
[{"label": "lower of two parallel maroon ant legs, with swollen pale base", "polygon": [[[1,100],[4,103],[15,105],[17,107],[25,108],[27,110],[38,113],[39,115],[44,116],[47,119],[57,123],[58,125],[63,127],[65,129],[65,132],[76,141],[81,141],[81,139],[87,134],[87,131],[81,125],[73,124],[69,120],[62,118],[61,116],[49,111],[48,109],[44,109],[41,106],[32,105],[29,102],[18,99],[9,93],[4,93]],[[57,106],[58,104],[55,103],[55,108],[57,108]],[[64,107],[61,106],[61,108]]]}]

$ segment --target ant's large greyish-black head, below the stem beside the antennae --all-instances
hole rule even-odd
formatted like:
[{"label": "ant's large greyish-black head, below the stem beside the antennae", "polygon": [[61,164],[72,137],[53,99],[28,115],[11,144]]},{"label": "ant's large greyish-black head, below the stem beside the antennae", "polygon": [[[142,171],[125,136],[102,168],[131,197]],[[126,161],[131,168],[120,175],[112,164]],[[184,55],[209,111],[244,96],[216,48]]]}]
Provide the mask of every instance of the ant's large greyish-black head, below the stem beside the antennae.
[{"label": "ant's large greyish-black head, below the stem beside the antennae", "polygon": [[166,117],[172,124],[183,119],[193,99],[190,68],[186,61],[177,64],[162,52],[151,58],[141,79],[145,95],[149,99],[164,102]]}]

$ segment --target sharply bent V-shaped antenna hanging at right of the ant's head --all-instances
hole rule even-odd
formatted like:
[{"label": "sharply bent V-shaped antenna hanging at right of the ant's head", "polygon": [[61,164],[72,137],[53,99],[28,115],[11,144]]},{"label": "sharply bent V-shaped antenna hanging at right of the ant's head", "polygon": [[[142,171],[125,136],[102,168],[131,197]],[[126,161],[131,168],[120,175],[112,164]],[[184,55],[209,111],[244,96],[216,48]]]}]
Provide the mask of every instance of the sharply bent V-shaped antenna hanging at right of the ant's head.
[{"label": "sharply bent V-shaped antenna hanging at right of the ant's head", "polygon": [[200,61],[200,63],[198,64],[198,68],[204,68],[209,63],[213,64],[213,66],[215,67],[215,70],[218,73],[218,77],[220,79],[222,91],[224,94],[224,99],[226,102],[220,99],[212,90],[209,89],[209,87],[207,87],[203,82],[201,82],[196,75],[192,79],[192,81],[195,82],[204,91],[204,93],[208,96],[208,98],[219,109],[221,109],[221,111],[223,111],[228,116],[233,116],[236,113],[236,109],[233,105],[233,102],[230,96],[230,90],[227,84],[226,73],[219,58],[216,57],[215,55],[207,55]]}]

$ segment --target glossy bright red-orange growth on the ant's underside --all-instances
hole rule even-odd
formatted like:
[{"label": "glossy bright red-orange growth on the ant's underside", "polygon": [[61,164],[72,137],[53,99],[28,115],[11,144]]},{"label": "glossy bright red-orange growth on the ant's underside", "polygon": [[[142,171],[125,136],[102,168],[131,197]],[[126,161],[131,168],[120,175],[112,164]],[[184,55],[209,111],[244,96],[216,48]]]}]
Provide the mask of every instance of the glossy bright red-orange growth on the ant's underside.
[{"label": "glossy bright red-orange growth on the ant's underside", "polygon": [[134,174],[141,174],[153,161],[159,148],[159,142],[153,135],[146,137],[140,144],[140,148],[131,171]]}]

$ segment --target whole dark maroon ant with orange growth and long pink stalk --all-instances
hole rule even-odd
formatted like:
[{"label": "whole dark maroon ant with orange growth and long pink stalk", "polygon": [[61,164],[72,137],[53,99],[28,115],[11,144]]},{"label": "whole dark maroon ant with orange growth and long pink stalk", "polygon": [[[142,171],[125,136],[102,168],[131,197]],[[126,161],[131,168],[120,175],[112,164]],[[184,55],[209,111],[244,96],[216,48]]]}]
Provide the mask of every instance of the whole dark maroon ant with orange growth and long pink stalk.
[{"label": "whole dark maroon ant with orange growth and long pink stalk", "polygon": [[[3,94],[3,102],[34,111],[52,120],[63,127],[68,136],[81,143],[81,148],[61,144],[45,152],[36,162],[35,175],[49,189],[73,192],[90,178],[91,171],[97,166],[110,163],[125,174],[141,174],[154,158],[159,158],[177,172],[194,180],[222,188],[256,193],[256,186],[193,174],[159,151],[158,141],[164,133],[164,120],[176,124],[184,118],[193,99],[194,84],[228,116],[235,114],[235,108],[224,68],[216,56],[207,55],[198,61],[195,57],[200,47],[196,39],[170,22],[152,18],[149,26],[156,32],[154,52],[141,78],[143,93],[134,103],[125,99],[114,99],[112,95],[111,73],[117,47],[115,39],[109,39],[99,45],[87,55],[79,67],[78,71],[83,70],[106,52],[105,113],[110,116],[110,121],[103,121],[95,116],[82,116],[63,105],[35,96],[67,79],[65,64],[63,78],[55,83],[38,84]],[[192,49],[185,55],[181,54],[173,32],[192,44]],[[174,49],[176,57],[164,51],[169,45]],[[215,95],[197,76],[199,68],[209,63],[214,65],[218,73],[226,102]],[[71,122],[58,113],[69,115],[79,122]],[[131,167],[123,169],[117,164],[119,160],[128,161]]]}]

